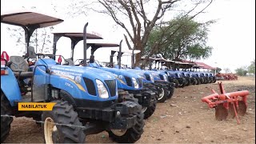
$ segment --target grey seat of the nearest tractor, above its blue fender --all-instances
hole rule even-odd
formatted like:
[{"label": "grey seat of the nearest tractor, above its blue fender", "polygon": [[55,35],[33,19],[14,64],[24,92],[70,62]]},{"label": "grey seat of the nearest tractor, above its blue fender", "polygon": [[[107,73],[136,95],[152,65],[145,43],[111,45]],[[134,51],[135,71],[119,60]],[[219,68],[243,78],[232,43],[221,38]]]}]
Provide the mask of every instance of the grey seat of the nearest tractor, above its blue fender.
[{"label": "grey seat of the nearest tractor, above its blue fender", "polygon": [[28,71],[28,63],[20,56],[10,56],[10,70],[13,70],[14,75],[19,78],[33,77],[33,71]]}]

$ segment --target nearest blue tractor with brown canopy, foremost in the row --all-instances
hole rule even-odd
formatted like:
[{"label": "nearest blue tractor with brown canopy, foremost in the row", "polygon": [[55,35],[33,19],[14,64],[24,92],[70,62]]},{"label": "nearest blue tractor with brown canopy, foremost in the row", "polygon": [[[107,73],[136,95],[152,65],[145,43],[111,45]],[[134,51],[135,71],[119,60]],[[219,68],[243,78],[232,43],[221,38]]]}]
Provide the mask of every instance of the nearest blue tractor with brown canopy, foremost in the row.
[{"label": "nearest blue tractor with brown canopy, foremost in the row", "polygon": [[[1,14],[1,22],[25,30],[28,58],[33,31],[62,22],[29,10]],[[86,26],[84,42],[86,47]],[[84,51],[86,60],[86,50]],[[104,70],[62,66],[53,58],[38,58],[32,71],[24,58],[11,56],[1,65],[1,142],[15,117],[42,121],[46,143],[83,143],[86,134],[106,130],[116,142],[136,142],[143,133],[142,107],[131,94],[118,94],[117,80]],[[29,84],[26,81],[30,78]],[[20,111],[19,102],[54,102],[53,110]]]}]

